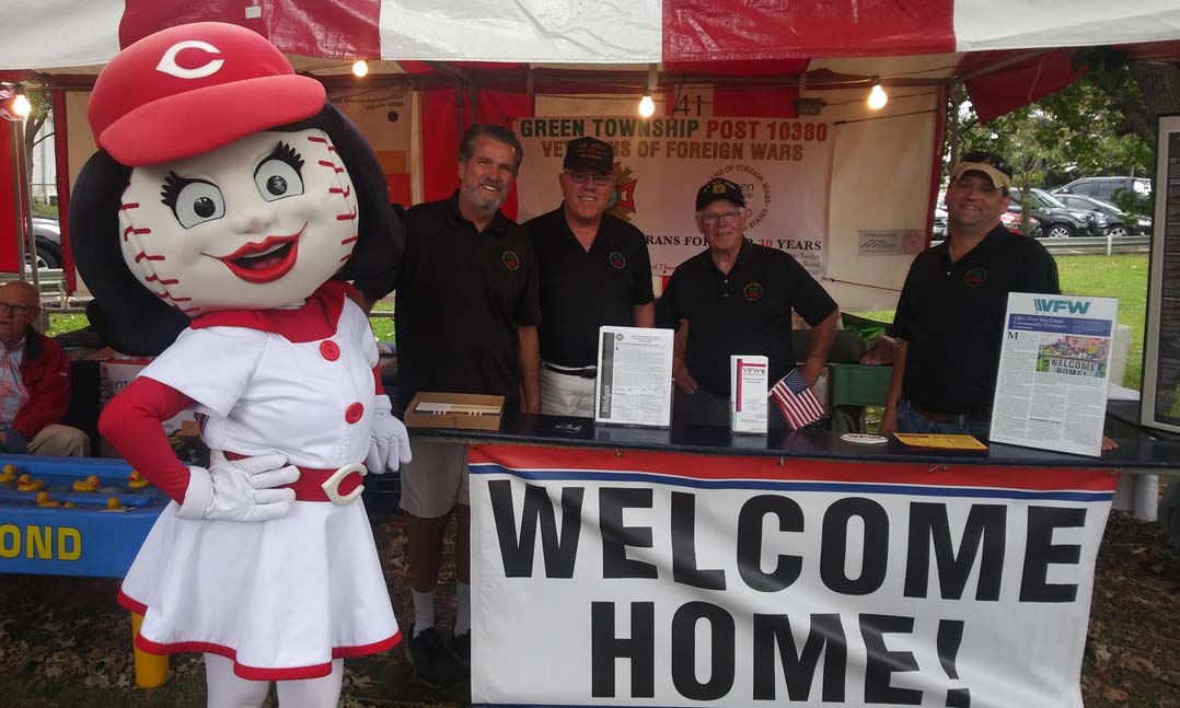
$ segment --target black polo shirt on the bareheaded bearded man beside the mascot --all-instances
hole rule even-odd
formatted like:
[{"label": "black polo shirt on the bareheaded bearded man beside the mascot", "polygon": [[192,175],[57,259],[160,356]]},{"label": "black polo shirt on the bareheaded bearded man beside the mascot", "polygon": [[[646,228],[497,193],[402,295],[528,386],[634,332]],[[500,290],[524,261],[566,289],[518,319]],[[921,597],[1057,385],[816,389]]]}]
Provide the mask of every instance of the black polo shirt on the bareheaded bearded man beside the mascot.
[{"label": "black polo shirt on the bareheaded bearded man beside the mascot", "polygon": [[396,281],[398,398],[419,391],[519,401],[518,326],[537,324],[537,261],[529,235],[497,214],[483,232],[458,192],[406,211]]}]

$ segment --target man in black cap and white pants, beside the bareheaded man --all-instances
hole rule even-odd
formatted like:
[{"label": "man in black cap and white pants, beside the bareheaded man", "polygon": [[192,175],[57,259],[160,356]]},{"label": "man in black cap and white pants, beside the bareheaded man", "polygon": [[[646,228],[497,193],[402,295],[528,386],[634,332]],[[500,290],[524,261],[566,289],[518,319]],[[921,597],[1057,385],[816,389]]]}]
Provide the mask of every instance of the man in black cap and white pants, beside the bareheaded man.
[{"label": "man in black cap and white pants, beside the bareheaded man", "polygon": [[651,327],[651,260],[643,234],[607,214],[610,144],[575,138],[562,166],[562,205],[524,224],[540,264],[540,411],[594,418],[598,328]]}]

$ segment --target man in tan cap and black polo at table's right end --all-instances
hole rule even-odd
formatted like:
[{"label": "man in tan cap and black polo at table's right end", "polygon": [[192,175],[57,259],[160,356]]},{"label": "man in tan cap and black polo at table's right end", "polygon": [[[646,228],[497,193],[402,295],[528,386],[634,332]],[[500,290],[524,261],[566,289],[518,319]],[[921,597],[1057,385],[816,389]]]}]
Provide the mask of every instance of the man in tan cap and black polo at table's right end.
[{"label": "man in tan cap and black polo at table's right end", "polygon": [[897,303],[881,432],[988,439],[1008,294],[1061,293],[1049,251],[999,223],[1011,185],[1011,168],[988,152],[951,170],[946,241],[913,260]]}]

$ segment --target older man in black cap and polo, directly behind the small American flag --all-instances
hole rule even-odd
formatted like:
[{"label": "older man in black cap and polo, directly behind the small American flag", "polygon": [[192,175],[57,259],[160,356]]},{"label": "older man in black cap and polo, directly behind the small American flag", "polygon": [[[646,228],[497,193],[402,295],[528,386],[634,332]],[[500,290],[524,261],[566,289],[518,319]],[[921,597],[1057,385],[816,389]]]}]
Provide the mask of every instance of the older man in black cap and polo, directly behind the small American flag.
[{"label": "older man in black cap and polo, directly behind the small American flag", "polygon": [[[811,350],[799,367],[814,386],[835,336],[835,301],[791,254],[745,236],[746,198],[728,179],[696,192],[696,227],[708,250],[681,263],[656,307],[661,327],[675,327],[674,415],[696,425],[729,425],[729,356],[767,356],[771,381],[795,368],[791,310],[812,326]],[[771,406],[774,408],[774,406]],[[782,428],[779,412],[771,427]]]}]

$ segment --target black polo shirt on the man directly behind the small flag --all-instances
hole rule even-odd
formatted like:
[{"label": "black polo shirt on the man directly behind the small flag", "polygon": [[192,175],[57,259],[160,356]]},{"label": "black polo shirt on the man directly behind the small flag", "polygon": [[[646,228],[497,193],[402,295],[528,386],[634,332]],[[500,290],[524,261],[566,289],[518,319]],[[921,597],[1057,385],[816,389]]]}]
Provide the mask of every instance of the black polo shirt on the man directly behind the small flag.
[{"label": "black polo shirt on the man directly behind the small flag", "polygon": [[742,238],[728,275],[708,250],[681,263],[660,297],[656,321],[677,327],[688,320],[688,371],[706,391],[728,399],[733,354],[768,358],[772,382],[794,368],[792,309],[814,327],[837,306],[791,254]]}]

